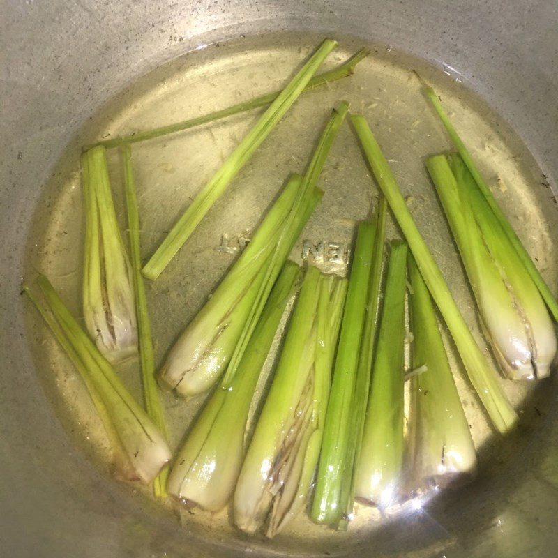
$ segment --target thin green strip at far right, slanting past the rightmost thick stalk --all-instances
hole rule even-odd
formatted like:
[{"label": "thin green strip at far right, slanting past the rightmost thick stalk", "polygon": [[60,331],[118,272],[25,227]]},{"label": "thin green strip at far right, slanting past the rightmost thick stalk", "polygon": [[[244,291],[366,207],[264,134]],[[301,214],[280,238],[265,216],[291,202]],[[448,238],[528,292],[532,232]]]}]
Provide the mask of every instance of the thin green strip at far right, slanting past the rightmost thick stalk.
[{"label": "thin green strip at far right, slanting past the rightmost thick stalk", "polygon": [[481,190],[481,193],[486,203],[488,204],[488,206],[490,206],[490,209],[492,210],[492,213],[494,214],[496,220],[498,221],[499,225],[502,227],[504,233],[508,237],[508,241],[515,249],[518,258],[520,259],[522,265],[527,270],[527,273],[529,273],[529,276],[531,276],[531,279],[533,280],[537,289],[539,290],[539,292],[541,292],[541,296],[543,297],[555,321],[558,322],[558,301],[556,297],[554,296],[554,294],[552,294],[552,291],[546,284],[545,280],[543,279],[543,276],[541,276],[540,271],[536,269],[536,265],[531,259],[529,252],[527,252],[527,249],[525,248],[525,246],[523,246],[523,243],[520,240],[518,234],[515,232],[515,230],[513,230],[513,227],[511,226],[510,222],[506,218],[504,211],[502,211],[502,208],[499,206],[498,202],[496,201],[494,194],[492,194],[490,188],[488,188],[488,184],[485,183],[483,177],[481,176],[481,173],[478,171],[478,168],[474,163],[471,153],[469,153],[469,150],[462,142],[457,131],[453,127],[453,124],[451,123],[449,116],[444,111],[444,107],[442,107],[442,103],[440,102],[436,92],[434,91],[434,89],[432,89],[431,86],[428,86],[427,84],[423,83],[423,86],[424,86],[424,91],[426,96],[430,100],[430,103],[432,103],[432,106],[435,108],[439,116],[439,119],[442,121],[442,124],[444,125],[444,128],[446,128],[446,131],[449,137],[451,138],[451,141],[453,142],[455,149],[458,150],[463,162],[465,163],[465,165],[467,165],[467,168],[469,169],[469,172],[471,173],[476,185],[478,186],[478,189]]}]

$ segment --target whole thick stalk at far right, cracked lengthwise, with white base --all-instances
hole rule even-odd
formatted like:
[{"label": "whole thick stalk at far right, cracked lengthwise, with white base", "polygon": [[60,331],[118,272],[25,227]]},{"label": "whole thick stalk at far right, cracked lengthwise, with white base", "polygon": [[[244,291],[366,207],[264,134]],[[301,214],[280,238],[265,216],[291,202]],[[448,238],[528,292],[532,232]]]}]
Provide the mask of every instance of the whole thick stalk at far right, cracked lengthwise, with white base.
[{"label": "whole thick stalk at far right, cracked lengthwise, with white base", "polygon": [[556,335],[518,253],[458,154],[430,157],[426,167],[502,370],[510,379],[548,377]]}]

